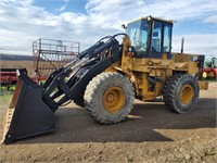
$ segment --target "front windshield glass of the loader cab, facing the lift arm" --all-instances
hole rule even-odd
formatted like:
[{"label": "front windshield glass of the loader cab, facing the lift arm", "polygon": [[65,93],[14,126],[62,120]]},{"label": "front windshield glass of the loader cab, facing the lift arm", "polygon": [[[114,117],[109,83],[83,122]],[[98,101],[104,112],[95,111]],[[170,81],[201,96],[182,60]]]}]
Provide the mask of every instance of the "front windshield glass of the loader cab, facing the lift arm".
[{"label": "front windshield glass of the loader cab, facing the lift arm", "polygon": [[146,20],[140,20],[127,25],[127,35],[131,40],[131,46],[138,55],[146,53],[149,24]]}]

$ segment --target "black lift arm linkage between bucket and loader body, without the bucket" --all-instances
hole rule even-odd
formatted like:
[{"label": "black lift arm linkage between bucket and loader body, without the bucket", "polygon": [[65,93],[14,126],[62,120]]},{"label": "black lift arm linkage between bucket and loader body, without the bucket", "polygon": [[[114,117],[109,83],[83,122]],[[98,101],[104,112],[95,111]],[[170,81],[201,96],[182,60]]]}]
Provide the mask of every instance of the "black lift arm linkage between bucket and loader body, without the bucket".
[{"label": "black lift arm linkage between bucket and loader body, without the bucket", "polygon": [[[102,40],[106,38],[108,38],[108,40],[103,42]],[[111,55],[108,53],[111,53]],[[106,57],[102,57],[104,54]],[[43,101],[54,112],[60,105],[68,100],[77,98],[78,95],[85,90],[92,77],[102,73],[114,62],[119,60],[120,57],[119,43],[115,39],[115,36],[107,36],[101,39],[94,46],[81,52],[75,61],[72,61],[66,66],[53,72],[49,76],[48,80],[42,86]],[[73,65],[75,62],[76,64]],[[85,65],[82,65],[84,63]],[[82,66],[79,67],[80,65]],[[78,71],[65,82],[65,78],[77,67],[79,67]],[[87,68],[87,71],[85,75],[78,79],[79,71],[81,68]],[[58,91],[55,91],[56,88]],[[55,102],[54,99],[58,99],[62,95],[64,96]]]}]

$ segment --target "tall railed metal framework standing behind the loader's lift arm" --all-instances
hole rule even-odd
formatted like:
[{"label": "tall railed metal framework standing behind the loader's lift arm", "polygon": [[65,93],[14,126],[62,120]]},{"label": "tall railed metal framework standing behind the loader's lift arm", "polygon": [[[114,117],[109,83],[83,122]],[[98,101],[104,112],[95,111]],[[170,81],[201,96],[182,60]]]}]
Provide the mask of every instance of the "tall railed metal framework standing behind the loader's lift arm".
[{"label": "tall railed metal framework standing behind the loader's lift arm", "polygon": [[75,59],[79,50],[79,42],[39,38],[33,42],[35,73],[48,76]]}]

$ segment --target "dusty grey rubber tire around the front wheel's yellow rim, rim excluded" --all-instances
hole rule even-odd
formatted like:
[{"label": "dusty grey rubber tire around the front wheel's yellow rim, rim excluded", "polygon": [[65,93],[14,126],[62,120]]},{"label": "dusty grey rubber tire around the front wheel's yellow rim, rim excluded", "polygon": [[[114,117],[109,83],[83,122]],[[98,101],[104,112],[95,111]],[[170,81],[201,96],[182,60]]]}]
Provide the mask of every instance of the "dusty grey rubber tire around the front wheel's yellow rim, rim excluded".
[{"label": "dusty grey rubber tire around the front wheel's yellow rim, rim excluded", "polygon": [[[107,88],[122,87],[126,96],[125,104],[117,113],[110,113],[103,108],[103,93]],[[85,91],[85,106],[90,115],[100,124],[116,124],[124,121],[131,112],[135,90],[127,77],[119,73],[101,73],[89,83]]]}]

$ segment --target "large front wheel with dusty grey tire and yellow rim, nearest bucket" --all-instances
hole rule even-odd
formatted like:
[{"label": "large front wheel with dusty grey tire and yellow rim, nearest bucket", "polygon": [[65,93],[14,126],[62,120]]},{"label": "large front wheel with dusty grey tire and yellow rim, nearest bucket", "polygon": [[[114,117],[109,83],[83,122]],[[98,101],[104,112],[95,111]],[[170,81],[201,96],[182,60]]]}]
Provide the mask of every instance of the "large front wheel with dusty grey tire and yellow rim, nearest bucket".
[{"label": "large front wheel with dusty grey tire and yellow rim, nearest bucket", "polygon": [[102,73],[92,78],[85,91],[85,106],[100,124],[116,124],[131,112],[132,84],[118,73]]}]

